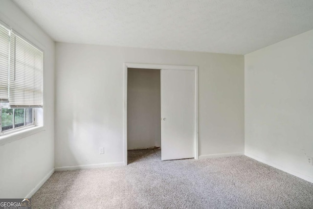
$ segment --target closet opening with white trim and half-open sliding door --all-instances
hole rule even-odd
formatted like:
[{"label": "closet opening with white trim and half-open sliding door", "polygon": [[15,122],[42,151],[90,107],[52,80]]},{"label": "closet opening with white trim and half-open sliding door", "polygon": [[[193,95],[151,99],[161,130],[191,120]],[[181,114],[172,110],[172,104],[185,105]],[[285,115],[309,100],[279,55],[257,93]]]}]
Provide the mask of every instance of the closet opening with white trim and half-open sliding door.
[{"label": "closet opening with white trim and half-open sliding door", "polygon": [[197,160],[198,134],[197,66],[124,64],[124,165]]}]

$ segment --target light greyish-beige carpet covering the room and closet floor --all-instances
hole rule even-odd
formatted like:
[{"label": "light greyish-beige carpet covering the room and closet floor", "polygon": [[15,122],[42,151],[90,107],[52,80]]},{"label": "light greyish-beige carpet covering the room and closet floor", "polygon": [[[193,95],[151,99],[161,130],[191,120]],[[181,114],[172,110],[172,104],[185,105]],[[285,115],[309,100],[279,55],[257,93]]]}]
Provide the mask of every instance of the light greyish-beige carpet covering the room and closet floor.
[{"label": "light greyish-beige carpet covering the room and closet floor", "polygon": [[313,184],[245,156],[161,161],[129,152],[129,165],[55,172],[33,208],[313,209]]}]

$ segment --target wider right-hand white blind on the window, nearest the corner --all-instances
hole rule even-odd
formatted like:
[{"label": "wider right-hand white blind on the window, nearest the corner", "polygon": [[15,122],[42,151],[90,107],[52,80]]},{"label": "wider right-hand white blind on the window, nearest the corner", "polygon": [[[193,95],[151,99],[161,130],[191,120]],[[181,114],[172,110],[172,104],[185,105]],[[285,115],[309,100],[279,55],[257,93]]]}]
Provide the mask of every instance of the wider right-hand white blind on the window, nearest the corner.
[{"label": "wider right-hand white blind on the window, nearest the corner", "polygon": [[14,66],[10,70],[10,106],[42,107],[43,52],[15,35]]}]

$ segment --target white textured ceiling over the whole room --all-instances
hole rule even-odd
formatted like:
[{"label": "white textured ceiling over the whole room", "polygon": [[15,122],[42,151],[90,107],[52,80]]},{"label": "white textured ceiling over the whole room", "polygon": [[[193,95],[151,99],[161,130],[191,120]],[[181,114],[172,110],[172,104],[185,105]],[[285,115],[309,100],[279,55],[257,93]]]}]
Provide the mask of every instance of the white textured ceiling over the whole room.
[{"label": "white textured ceiling over the whole room", "polygon": [[313,0],[14,0],[55,41],[246,54],[313,29]]}]

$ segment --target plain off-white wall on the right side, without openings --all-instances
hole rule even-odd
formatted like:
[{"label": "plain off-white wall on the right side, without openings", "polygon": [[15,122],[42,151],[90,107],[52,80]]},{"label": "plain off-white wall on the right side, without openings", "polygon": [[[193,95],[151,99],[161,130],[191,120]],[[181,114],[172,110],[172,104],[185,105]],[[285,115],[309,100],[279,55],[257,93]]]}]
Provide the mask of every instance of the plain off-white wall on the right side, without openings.
[{"label": "plain off-white wall on the right side, without openings", "polygon": [[313,182],[313,30],[245,55],[245,153]]}]

